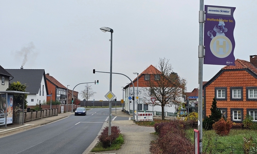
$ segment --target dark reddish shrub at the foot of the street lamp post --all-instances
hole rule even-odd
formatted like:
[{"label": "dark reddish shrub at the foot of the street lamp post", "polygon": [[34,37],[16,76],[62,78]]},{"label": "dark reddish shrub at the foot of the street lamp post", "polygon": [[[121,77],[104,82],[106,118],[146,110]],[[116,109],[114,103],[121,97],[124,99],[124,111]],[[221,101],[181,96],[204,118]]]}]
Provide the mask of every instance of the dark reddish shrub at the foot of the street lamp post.
[{"label": "dark reddish shrub at the foot of the street lamp post", "polygon": [[120,129],[118,126],[111,127],[111,135],[108,136],[109,127],[105,127],[98,137],[104,148],[110,146],[120,135]]}]

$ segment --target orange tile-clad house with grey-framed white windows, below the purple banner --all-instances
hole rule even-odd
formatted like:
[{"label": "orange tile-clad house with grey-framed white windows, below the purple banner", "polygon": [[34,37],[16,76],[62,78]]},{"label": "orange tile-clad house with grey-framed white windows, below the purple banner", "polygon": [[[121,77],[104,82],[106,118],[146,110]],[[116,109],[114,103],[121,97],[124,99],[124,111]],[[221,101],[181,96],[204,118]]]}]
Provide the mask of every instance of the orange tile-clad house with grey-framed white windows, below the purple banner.
[{"label": "orange tile-clad house with grey-framed white windows, below the purple banner", "polygon": [[242,123],[246,114],[257,122],[257,55],[250,62],[235,60],[235,66],[223,67],[204,86],[204,117],[211,114],[213,98],[226,118]]}]

